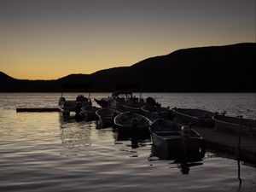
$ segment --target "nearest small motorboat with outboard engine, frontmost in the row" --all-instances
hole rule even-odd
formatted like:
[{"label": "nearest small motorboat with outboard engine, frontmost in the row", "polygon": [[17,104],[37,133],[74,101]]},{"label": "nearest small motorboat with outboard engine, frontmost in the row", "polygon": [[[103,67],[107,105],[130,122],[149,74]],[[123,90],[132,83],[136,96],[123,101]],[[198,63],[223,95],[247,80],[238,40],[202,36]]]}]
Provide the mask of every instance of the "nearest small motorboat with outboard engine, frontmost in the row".
[{"label": "nearest small motorboat with outboard engine, frontmost in the row", "polygon": [[154,146],[168,153],[199,153],[204,149],[204,140],[198,132],[171,120],[157,119],[149,131]]}]

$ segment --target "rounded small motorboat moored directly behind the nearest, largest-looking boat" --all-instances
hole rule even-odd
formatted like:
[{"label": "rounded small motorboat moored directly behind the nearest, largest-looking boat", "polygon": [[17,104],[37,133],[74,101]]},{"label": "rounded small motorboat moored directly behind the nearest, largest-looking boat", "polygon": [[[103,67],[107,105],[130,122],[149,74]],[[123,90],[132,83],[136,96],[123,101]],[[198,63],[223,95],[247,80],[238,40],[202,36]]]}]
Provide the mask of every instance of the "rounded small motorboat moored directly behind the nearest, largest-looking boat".
[{"label": "rounded small motorboat moored directly behind the nearest, largest-looking boat", "polygon": [[138,113],[132,113],[132,112],[125,112],[125,113],[119,113],[114,119],[113,119],[114,127],[118,131],[145,131],[148,132],[148,127],[151,123],[151,121],[146,118],[145,116],[138,114]]}]

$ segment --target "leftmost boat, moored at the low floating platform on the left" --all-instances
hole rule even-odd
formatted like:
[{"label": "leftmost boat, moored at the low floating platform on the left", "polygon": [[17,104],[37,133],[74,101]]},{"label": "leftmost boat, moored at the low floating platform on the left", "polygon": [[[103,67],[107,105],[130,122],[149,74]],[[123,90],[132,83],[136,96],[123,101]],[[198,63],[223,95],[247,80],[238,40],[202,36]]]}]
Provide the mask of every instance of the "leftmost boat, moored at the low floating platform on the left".
[{"label": "leftmost boat, moored at the low floating platform on the left", "polygon": [[71,112],[79,115],[84,106],[91,106],[90,97],[79,95],[75,100],[66,100],[65,97],[61,96],[59,99],[59,110],[65,117],[69,117]]}]

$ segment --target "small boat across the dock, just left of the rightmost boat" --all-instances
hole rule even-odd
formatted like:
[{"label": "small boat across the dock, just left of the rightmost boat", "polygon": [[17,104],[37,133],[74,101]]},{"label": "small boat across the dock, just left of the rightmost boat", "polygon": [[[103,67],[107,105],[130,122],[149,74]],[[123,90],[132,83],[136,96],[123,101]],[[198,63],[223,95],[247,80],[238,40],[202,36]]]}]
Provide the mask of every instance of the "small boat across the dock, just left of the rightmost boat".
[{"label": "small boat across the dock, just left of the rightmost boat", "polygon": [[173,118],[176,122],[187,125],[213,127],[214,113],[203,109],[194,108],[172,108]]}]

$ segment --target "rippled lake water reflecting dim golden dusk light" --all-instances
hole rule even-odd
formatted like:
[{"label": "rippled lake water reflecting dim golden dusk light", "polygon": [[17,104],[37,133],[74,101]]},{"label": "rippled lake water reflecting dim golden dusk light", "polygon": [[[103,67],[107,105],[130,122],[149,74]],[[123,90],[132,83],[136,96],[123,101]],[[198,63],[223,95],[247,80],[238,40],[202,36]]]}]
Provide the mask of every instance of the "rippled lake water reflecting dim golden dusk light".
[{"label": "rippled lake water reflecting dim golden dusk light", "polygon": [[[189,164],[189,174],[183,174],[182,163],[154,155],[150,138],[132,148],[131,140],[119,140],[111,127],[96,129],[96,121],[63,120],[59,113],[15,112],[15,108],[56,107],[59,96],[0,93],[1,192],[256,191],[256,168],[219,154],[207,152],[202,160]],[[77,93],[64,96],[72,99]],[[102,96],[110,93],[91,94]],[[143,96],[153,96],[170,108],[203,108],[256,119],[252,93]]]}]

